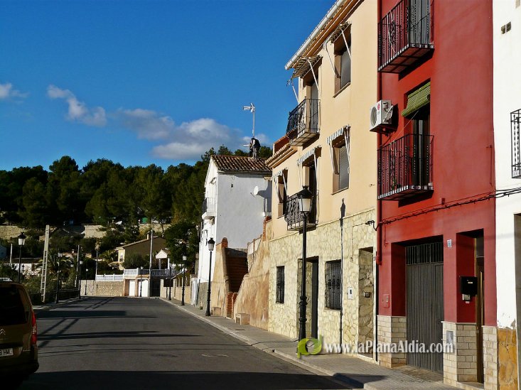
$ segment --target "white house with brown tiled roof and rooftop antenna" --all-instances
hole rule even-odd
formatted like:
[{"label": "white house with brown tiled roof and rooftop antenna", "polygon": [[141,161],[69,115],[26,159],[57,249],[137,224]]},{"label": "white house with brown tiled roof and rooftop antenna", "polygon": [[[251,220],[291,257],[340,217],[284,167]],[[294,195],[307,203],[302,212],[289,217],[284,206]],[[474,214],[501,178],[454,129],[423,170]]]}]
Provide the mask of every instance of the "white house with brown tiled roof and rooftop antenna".
[{"label": "white house with brown tiled roof and rooftop antenna", "polygon": [[262,159],[211,156],[205,180],[198,283],[208,283],[208,239],[219,243],[226,237],[228,247],[242,249],[252,237],[262,234],[264,218],[271,215],[271,175],[272,170]]}]

